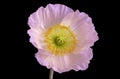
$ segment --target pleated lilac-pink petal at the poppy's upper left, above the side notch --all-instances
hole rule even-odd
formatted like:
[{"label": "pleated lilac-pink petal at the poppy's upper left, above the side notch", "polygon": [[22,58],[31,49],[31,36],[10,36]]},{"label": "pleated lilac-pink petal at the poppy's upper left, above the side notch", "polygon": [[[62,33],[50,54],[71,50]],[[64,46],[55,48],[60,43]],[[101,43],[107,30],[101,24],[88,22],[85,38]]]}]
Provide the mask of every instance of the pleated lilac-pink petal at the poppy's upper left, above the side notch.
[{"label": "pleated lilac-pink petal at the poppy's upper left, above the side notch", "polygon": [[73,10],[65,5],[48,4],[46,8],[40,7],[36,12],[30,15],[28,25],[30,27],[47,29],[60,23],[70,12],[73,12]]}]

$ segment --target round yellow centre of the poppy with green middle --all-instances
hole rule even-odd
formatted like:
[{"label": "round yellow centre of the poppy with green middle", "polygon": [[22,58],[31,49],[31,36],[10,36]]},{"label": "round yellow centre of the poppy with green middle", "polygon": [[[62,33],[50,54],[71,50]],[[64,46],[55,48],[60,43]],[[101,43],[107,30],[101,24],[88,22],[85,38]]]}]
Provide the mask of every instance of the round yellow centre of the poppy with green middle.
[{"label": "round yellow centre of the poppy with green middle", "polygon": [[57,56],[71,53],[76,46],[76,38],[67,26],[55,25],[45,32],[47,49]]}]

